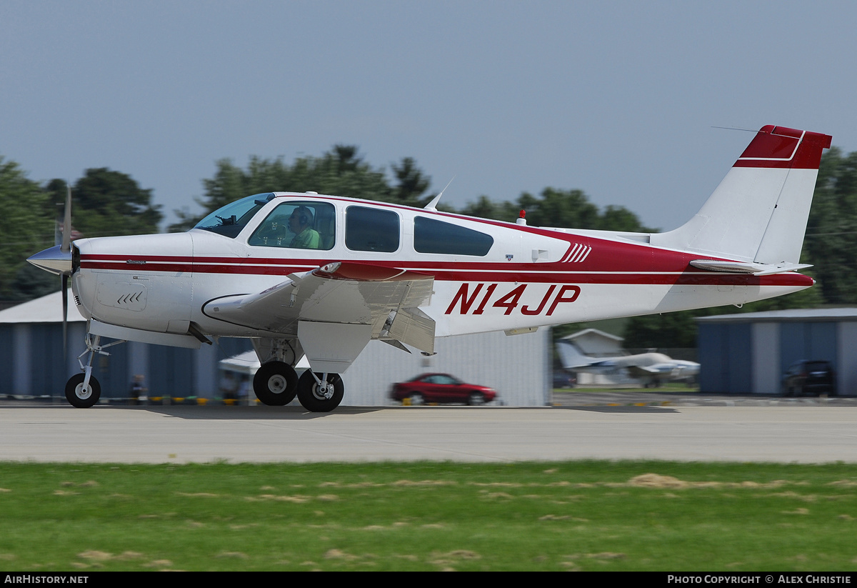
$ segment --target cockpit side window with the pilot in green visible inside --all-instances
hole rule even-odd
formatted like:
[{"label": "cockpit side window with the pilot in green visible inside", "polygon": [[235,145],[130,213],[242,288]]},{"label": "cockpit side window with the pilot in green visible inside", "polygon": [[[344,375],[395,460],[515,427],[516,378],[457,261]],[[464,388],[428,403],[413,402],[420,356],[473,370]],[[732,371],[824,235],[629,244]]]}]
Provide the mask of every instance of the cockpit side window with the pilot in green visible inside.
[{"label": "cockpit side window with the pilot in green visible inside", "polygon": [[333,249],[336,211],[332,204],[289,201],[274,208],[253,231],[248,243],[255,247]]}]

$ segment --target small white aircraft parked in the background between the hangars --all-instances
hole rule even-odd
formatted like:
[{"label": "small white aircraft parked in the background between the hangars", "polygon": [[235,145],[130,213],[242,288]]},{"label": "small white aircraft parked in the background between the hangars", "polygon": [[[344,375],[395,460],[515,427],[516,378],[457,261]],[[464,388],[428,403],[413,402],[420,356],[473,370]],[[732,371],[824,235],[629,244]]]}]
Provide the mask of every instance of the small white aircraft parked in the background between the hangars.
[{"label": "small white aircraft parked in the background between the hangars", "polygon": [[572,341],[556,342],[563,369],[585,374],[614,374],[626,370],[628,375],[645,381],[645,386],[657,386],[662,381],[686,380],[699,375],[699,364],[684,359],[673,359],[664,353],[650,351],[615,357],[590,357]]}]

